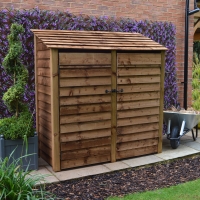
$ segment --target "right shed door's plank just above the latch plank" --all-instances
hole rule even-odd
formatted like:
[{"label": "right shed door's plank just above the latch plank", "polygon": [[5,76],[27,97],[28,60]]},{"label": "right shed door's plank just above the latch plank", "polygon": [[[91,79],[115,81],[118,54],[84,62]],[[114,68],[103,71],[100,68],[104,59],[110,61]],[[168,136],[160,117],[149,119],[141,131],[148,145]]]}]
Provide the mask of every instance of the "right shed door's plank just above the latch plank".
[{"label": "right shed door's plank just above the latch plank", "polygon": [[117,84],[135,84],[135,83],[159,83],[160,76],[132,76],[132,77],[119,77]]}]

